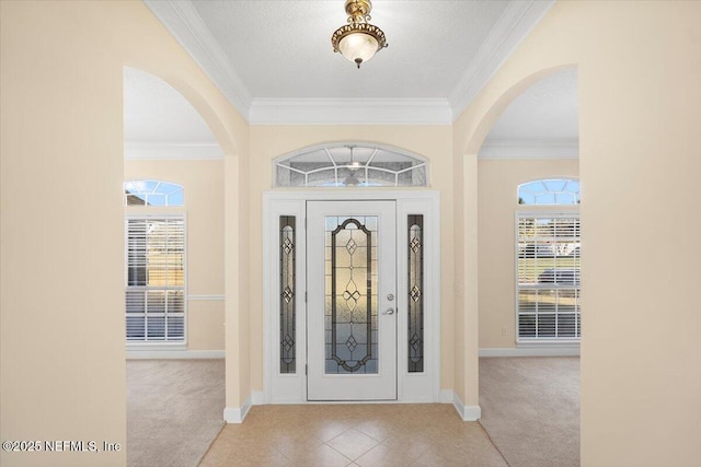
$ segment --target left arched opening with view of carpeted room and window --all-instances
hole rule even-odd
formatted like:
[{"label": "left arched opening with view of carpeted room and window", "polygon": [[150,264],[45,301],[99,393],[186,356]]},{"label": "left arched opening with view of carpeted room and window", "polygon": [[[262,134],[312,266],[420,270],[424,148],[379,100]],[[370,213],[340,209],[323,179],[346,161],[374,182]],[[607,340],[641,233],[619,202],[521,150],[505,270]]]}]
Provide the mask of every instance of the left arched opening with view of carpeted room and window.
[{"label": "left arched opening with view of carpeted room and window", "polygon": [[[176,425],[169,406],[199,404],[209,413],[198,428],[206,443],[216,436],[212,428],[218,431],[226,408],[225,272],[238,265],[225,260],[225,168],[227,160],[238,157],[205,97],[182,79],[179,85],[124,68],[129,462],[182,444],[177,435],[161,436],[157,445],[139,435],[156,420]],[[198,402],[185,395],[194,384],[204,395]],[[195,462],[203,450],[194,443],[186,455]]]}]

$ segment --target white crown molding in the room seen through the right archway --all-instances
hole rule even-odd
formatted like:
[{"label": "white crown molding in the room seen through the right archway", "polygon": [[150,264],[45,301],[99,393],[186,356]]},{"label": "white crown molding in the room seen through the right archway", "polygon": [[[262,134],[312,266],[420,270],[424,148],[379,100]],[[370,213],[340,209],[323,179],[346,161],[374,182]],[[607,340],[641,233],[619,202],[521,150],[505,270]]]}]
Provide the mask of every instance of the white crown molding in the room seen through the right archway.
[{"label": "white crown molding in the room seen through the right archway", "polygon": [[480,159],[577,159],[578,139],[485,140]]}]

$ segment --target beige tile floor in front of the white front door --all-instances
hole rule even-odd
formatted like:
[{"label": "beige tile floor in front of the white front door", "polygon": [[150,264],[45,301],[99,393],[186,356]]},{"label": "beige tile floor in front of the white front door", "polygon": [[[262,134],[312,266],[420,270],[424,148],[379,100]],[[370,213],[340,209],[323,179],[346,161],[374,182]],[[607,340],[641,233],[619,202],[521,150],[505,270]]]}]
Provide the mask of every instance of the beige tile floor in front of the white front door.
[{"label": "beige tile floor in front of the white front door", "polygon": [[199,464],[212,466],[508,466],[451,405],[255,406]]}]

